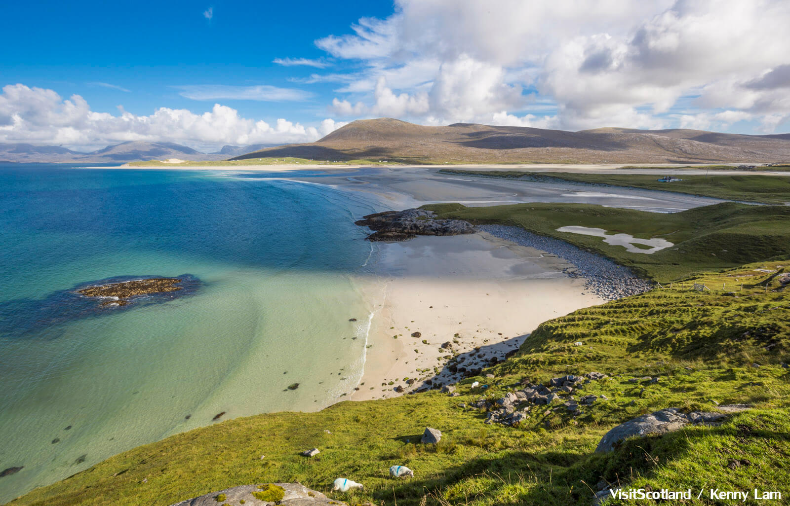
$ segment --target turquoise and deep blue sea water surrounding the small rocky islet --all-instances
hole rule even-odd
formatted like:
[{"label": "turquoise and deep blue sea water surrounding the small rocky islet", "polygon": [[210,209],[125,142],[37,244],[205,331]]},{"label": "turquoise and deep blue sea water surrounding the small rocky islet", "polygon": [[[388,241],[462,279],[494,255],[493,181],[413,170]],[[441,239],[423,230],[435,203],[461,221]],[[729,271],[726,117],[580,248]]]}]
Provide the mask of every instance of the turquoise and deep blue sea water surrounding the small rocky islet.
[{"label": "turquoise and deep blue sea water surrounding the small rocky islet", "polygon": [[[0,502],[222,411],[349,392],[370,313],[353,221],[374,205],[275,174],[0,165],[0,470],[24,466]],[[169,302],[67,305],[88,281],[183,274],[198,287]]]}]

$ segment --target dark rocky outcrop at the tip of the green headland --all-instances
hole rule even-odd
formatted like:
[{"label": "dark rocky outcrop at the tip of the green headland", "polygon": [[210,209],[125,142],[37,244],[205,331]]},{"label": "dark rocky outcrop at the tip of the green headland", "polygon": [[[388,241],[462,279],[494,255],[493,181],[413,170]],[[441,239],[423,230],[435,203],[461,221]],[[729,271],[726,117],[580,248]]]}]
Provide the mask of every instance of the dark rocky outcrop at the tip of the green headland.
[{"label": "dark rocky outcrop at the tip of the green headland", "polygon": [[368,227],[373,234],[368,241],[406,241],[418,235],[474,234],[477,229],[463,219],[437,219],[436,213],[427,209],[385,211],[363,216],[354,223]]}]

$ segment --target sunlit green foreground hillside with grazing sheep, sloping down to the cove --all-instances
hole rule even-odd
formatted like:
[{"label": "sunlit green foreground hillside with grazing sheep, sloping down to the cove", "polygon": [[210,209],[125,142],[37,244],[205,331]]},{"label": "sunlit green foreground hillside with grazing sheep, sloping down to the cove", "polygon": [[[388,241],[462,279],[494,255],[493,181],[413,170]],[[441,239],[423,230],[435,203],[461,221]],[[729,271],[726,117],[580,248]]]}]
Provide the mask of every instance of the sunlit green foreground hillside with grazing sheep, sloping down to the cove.
[{"label": "sunlit green foreground hillside with grazing sheep, sloping down to the cove", "polygon": [[[516,356],[485,371],[494,380],[468,378],[457,397],[433,391],[220,422],[116,455],[11,504],[149,506],[235,485],[290,481],[351,504],[398,506],[587,506],[602,479],[653,489],[790,493],[790,376],[783,365],[790,361],[790,293],[781,290],[779,275],[788,262],[693,279],[713,291],[673,285],[546,322]],[[735,279],[748,280],[735,295],[718,289]],[[574,346],[577,341],[582,345]],[[585,384],[584,394],[608,399],[583,414],[557,404],[532,406],[521,425],[507,427],[486,425],[485,408],[459,407],[481,396],[496,399],[525,378],[591,371],[609,377]],[[630,381],[646,375],[659,380]],[[473,380],[490,388],[472,391]],[[716,427],[688,427],[594,452],[608,429],[639,414],[664,407],[716,410],[717,403],[755,409]],[[439,444],[419,444],[426,426],[442,430]],[[298,455],[314,447],[321,450],[316,457]],[[390,479],[393,464],[412,468],[415,478]],[[362,482],[364,492],[332,493],[340,476]]]}]

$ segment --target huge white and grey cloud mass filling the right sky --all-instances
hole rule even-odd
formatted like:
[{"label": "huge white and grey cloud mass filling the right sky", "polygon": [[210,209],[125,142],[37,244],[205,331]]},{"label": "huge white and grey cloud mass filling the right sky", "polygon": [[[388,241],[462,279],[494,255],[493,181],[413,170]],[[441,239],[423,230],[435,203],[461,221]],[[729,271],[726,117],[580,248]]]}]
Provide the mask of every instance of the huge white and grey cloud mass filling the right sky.
[{"label": "huge white and grey cloud mass filling the right sky", "polygon": [[[392,16],[362,18],[316,46],[362,67],[337,90],[336,114],[535,113],[570,129],[700,115],[712,128],[732,118],[771,128],[790,114],[790,39],[776,35],[788,21],[785,0],[397,0]],[[532,111],[546,99],[555,111]]]}]

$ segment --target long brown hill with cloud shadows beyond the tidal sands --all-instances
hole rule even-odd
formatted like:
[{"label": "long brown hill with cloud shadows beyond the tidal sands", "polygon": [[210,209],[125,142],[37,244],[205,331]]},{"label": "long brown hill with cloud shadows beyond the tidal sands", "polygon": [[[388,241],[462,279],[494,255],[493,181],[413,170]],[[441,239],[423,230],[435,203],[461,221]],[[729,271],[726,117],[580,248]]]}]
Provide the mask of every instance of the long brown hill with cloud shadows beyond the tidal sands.
[{"label": "long brown hill with cloud shadows beyond the tidal sands", "polygon": [[470,123],[421,126],[379,118],[349,123],[313,143],[232,159],[288,156],[405,163],[770,163],[790,159],[790,134],[622,128],[566,132]]}]

